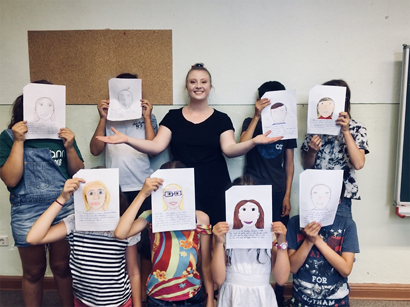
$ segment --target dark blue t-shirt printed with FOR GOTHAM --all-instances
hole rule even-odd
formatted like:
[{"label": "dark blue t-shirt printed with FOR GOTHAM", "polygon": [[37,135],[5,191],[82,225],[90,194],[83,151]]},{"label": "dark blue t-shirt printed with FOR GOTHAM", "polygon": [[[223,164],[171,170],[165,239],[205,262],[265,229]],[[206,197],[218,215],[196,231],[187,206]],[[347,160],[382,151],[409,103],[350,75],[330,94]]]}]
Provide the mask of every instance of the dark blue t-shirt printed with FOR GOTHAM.
[{"label": "dark blue t-shirt printed with FOR GOTHAM", "polygon": [[[350,218],[335,217],[333,225],[322,227],[319,236],[338,255],[359,252],[356,224]],[[299,227],[299,215],[288,224],[286,240],[289,248],[297,250],[305,237]],[[301,306],[347,306],[350,288],[343,277],[313,246],[300,269],[293,274],[292,296]]]}]

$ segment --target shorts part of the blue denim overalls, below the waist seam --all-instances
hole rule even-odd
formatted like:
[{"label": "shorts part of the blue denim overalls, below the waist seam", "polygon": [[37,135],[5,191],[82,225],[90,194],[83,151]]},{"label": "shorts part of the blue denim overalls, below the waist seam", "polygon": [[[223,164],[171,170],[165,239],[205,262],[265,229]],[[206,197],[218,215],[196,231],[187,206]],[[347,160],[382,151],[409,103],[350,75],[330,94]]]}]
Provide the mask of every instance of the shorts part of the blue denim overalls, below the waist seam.
[{"label": "shorts part of the blue denim overalls, below the waist seam", "polygon": [[[60,194],[61,192],[44,195],[10,195],[11,231],[14,238],[14,246],[30,246],[26,241],[26,236],[31,226]],[[52,225],[63,221],[63,218],[72,213],[74,213],[74,204],[71,198],[58,213]]]}]

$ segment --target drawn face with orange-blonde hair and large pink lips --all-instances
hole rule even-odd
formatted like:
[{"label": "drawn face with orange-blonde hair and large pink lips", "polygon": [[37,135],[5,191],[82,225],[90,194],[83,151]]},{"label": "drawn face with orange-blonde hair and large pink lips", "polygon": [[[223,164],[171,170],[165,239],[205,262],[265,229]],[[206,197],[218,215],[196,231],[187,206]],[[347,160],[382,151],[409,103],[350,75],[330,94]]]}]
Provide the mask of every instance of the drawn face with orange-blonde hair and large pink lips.
[{"label": "drawn face with orange-blonde hair and large pink lips", "polygon": [[83,198],[87,211],[107,211],[110,206],[110,191],[99,180],[88,182],[84,186]]}]

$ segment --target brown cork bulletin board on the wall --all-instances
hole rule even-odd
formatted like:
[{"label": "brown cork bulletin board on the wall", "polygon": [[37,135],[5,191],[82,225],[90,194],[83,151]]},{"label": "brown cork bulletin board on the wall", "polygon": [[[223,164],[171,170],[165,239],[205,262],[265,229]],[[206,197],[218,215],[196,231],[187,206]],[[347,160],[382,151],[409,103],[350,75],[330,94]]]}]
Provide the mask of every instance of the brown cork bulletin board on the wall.
[{"label": "brown cork bulletin board on the wall", "polygon": [[171,30],[28,31],[30,79],[66,85],[67,104],[108,99],[108,80],[142,79],[142,98],[172,104]]}]

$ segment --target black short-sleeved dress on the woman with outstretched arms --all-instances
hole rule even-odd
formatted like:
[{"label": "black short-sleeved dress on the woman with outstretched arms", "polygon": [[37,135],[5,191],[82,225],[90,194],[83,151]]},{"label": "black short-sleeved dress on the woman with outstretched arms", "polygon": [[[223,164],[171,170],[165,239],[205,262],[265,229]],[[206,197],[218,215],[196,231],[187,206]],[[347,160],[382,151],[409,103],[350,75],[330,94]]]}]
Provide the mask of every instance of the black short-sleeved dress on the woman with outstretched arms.
[{"label": "black short-sleeved dress on the woman with outstretched arms", "polygon": [[170,110],[159,125],[172,132],[174,160],[195,169],[196,210],[207,213],[212,225],[225,221],[225,190],[231,179],[219,139],[224,131],[234,130],[229,116],[214,110],[209,118],[194,124],[179,108]]}]

